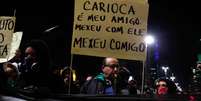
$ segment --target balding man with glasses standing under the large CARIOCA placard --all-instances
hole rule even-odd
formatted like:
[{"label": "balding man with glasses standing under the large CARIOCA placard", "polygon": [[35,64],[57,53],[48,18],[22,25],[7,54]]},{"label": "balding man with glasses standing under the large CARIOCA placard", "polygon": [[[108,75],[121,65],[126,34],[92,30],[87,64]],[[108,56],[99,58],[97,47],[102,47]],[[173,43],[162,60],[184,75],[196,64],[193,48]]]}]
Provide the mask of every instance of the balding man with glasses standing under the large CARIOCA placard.
[{"label": "balding man with glasses standing under the large CARIOCA placard", "polygon": [[102,73],[95,77],[87,77],[81,87],[81,93],[101,95],[128,95],[129,72],[119,66],[119,61],[113,57],[103,60]]}]

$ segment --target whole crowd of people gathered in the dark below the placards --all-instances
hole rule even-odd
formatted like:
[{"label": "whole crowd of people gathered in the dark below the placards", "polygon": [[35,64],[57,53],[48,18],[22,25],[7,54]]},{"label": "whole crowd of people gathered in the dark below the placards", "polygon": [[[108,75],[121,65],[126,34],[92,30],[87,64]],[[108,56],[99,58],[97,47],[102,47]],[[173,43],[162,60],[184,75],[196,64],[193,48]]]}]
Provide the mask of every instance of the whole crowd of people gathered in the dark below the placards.
[{"label": "whole crowd of people gathered in the dark below the placards", "polygon": [[[83,84],[74,80],[72,68],[52,67],[48,47],[44,41],[33,40],[25,49],[17,50],[15,57],[2,64],[0,68],[0,93],[17,95],[18,92],[30,91],[34,94],[71,93],[89,95],[137,95],[142,94],[137,81],[118,59],[106,57],[103,60],[101,73],[88,76]],[[168,79],[159,78],[154,90],[143,94],[157,96],[175,95],[177,88]],[[70,89],[69,89],[70,88]]]}]

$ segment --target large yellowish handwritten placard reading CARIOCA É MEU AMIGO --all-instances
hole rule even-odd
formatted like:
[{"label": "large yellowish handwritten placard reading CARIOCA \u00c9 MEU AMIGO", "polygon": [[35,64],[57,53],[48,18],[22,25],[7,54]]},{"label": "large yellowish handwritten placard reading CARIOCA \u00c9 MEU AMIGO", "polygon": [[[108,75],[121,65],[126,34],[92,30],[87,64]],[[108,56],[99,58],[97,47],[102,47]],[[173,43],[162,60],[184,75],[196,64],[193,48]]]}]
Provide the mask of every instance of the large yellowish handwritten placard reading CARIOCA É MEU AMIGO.
[{"label": "large yellowish handwritten placard reading CARIOCA \u00c9 MEU AMIGO", "polygon": [[144,60],[147,2],[75,0],[73,54]]}]

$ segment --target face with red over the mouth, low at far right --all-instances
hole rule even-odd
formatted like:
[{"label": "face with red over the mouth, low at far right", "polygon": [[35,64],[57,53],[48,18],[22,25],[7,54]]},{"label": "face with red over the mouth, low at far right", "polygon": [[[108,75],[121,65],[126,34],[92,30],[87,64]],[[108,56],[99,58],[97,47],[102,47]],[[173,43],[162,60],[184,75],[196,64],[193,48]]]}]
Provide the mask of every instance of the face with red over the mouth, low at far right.
[{"label": "face with red over the mouth, low at far right", "polygon": [[168,93],[167,83],[165,81],[159,81],[157,84],[157,94],[165,95]]}]

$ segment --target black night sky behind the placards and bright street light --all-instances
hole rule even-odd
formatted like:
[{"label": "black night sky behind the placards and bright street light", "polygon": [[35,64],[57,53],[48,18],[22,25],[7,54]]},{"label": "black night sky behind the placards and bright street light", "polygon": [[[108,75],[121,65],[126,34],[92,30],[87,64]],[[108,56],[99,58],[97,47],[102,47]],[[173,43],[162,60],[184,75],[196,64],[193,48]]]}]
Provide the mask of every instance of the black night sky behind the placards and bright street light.
[{"label": "black night sky behind the placards and bright street light", "polygon": [[[74,16],[73,0],[60,2],[33,0],[17,4],[2,8],[0,14],[12,16],[16,9],[15,31],[24,33],[21,47],[31,39],[43,39],[48,43],[54,64],[58,67],[69,66]],[[198,1],[149,0],[148,33],[154,35],[157,40],[158,63],[170,66],[176,78],[185,87],[189,83],[190,67],[195,66],[196,54],[201,52],[201,17],[198,15],[200,13],[198,4]],[[56,25],[59,27],[51,32],[44,32]],[[102,58],[74,56],[73,66],[83,72],[89,72],[86,70],[89,68],[95,71],[100,66],[101,60]],[[138,67],[134,61],[129,63],[134,63],[134,67]]]}]

